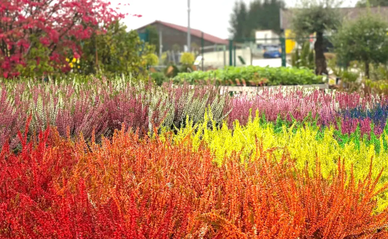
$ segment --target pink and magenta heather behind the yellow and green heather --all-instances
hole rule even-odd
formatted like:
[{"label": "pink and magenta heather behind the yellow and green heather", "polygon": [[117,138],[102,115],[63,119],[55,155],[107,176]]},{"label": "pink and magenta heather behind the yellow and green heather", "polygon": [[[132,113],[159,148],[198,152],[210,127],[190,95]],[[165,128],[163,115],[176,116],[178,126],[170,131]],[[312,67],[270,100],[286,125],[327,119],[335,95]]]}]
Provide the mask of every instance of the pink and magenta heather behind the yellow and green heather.
[{"label": "pink and magenta heather behind the yellow and green heather", "polygon": [[[369,116],[366,115],[366,118],[362,119],[354,114],[354,117],[351,118],[359,120],[350,120],[353,122],[350,124],[348,120],[343,119],[342,115],[355,108],[365,112],[368,110],[373,111],[376,105],[382,108],[387,106],[387,103],[386,98],[379,96],[363,97],[357,93],[347,94],[345,92],[325,92],[312,89],[266,89],[257,94],[239,95],[232,98],[230,102],[232,111],[227,122],[229,126],[232,126],[234,120],[239,120],[240,124],[246,124],[249,109],[252,109],[252,112],[258,111],[260,116],[265,115],[268,121],[275,121],[278,117],[289,121],[292,119],[303,121],[306,117],[311,116],[317,120],[319,125],[327,126],[330,124],[336,125],[337,119],[340,119],[340,121],[345,120],[343,130],[350,127],[349,130],[354,131],[354,124],[357,126],[357,123],[360,123],[366,126],[365,123],[367,122],[365,120]],[[381,117],[383,123],[380,122],[380,128],[385,126],[386,113],[383,114],[385,115],[381,116],[385,116],[385,119]],[[368,127],[370,131],[370,125]]]}]

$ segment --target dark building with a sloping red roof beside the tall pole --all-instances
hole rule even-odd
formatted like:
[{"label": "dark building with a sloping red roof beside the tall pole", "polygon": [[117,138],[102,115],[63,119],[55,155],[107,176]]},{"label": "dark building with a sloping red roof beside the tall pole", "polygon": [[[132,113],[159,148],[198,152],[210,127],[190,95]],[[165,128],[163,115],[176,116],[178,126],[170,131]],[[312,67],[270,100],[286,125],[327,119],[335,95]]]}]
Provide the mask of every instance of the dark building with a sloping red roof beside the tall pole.
[{"label": "dark building with a sloping red roof beside the tall pole", "polygon": [[[179,50],[183,51],[184,46],[187,45],[187,27],[179,26],[177,24],[166,23],[163,21],[154,21],[137,29],[137,32],[144,33],[147,26],[154,26],[162,34],[163,51],[173,49],[173,45],[179,46]],[[201,37],[203,34],[204,47],[211,45],[228,45],[228,40],[203,33],[201,30],[190,28],[191,44],[201,47]]]}]

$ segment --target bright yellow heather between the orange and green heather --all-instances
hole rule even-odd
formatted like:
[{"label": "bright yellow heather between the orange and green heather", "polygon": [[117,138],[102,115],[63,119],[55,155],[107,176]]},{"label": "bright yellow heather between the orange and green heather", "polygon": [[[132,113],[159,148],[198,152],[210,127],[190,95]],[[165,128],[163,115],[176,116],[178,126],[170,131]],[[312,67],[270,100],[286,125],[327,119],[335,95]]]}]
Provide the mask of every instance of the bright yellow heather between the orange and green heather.
[{"label": "bright yellow heather between the orange and green heather", "polygon": [[[208,127],[209,124],[212,124],[211,129]],[[294,128],[294,125],[291,127],[283,126],[280,133],[275,133],[274,125],[261,124],[257,114],[254,119],[250,117],[246,126],[241,126],[236,121],[233,129],[229,129],[227,124],[222,124],[222,127],[219,128],[212,119],[211,112],[207,110],[203,122],[193,125],[191,121],[187,120],[186,127],[177,129],[173,141],[180,144],[185,142],[185,138],[190,137],[194,150],[197,150],[200,144],[204,143],[215,154],[215,161],[220,166],[234,152],[240,155],[242,163],[258,158],[260,155],[256,155],[256,152],[258,152],[257,141],[262,143],[264,152],[276,148],[272,152],[275,158],[281,158],[282,154],[288,153],[292,159],[296,160],[296,167],[300,170],[308,163],[310,175],[315,171],[315,160],[318,159],[324,178],[331,175],[332,171],[337,170],[339,159],[346,159],[345,168],[348,170],[353,165],[356,180],[367,176],[372,158],[372,177],[378,176],[381,169],[387,166],[387,151],[380,150],[377,154],[372,144],[366,145],[362,141],[359,148],[356,147],[354,142],[346,143],[341,147],[333,137],[334,127],[325,129],[323,137],[319,140],[316,139],[318,129],[313,129],[307,125]],[[166,130],[164,131],[166,132]],[[164,134],[161,135],[162,139],[166,140]],[[388,136],[385,134],[384,136],[388,140]],[[380,138],[380,144],[380,148],[383,148],[382,138]],[[383,171],[379,185],[383,185],[387,178],[388,169]],[[386,196],[388,194],[382,195],[383,198]],[[379,200],[378,211],[386,206],[388,206],[388,200]]]}]

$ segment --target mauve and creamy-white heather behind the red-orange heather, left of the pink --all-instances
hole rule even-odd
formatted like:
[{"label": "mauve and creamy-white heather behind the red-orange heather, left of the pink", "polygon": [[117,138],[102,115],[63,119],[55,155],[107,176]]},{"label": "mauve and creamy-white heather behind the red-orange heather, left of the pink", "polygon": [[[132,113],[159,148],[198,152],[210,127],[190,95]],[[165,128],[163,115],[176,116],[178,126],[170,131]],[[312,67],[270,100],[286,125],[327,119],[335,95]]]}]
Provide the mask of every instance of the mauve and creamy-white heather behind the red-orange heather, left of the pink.
[{"label": "mauve and creamy-white heather behind the red-orange heather, left of the pink", "polygon": [[115,80],[40,83],[33,80],[0,83],[0,145],[19,143],[17,131],[24,129],[31,115],[29,134],[48,125],[61,136],[83,133],[86,139],[95,131],[97,139],[110,136],[125,123],[147,133],[153,127],[180,127],[186,117],[193,122],[203,118],[207,108],[217,122],[228,113],[229,98],[215,87],[169,85],[154,87],[130,77]]}]

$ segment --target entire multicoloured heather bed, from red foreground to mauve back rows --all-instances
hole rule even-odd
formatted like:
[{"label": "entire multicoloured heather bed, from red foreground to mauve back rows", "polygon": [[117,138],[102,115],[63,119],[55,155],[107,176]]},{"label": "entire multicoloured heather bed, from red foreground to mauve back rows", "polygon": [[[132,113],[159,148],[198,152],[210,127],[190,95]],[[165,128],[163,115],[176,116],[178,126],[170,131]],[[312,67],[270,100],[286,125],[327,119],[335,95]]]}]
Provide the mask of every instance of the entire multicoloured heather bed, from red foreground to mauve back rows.
[{"label": "entire multicoloured heather bed, from red foreground to mauve back rows", "polygon": [[1,238],[388,237],[385,96],[131,77],[0,92]]}]

